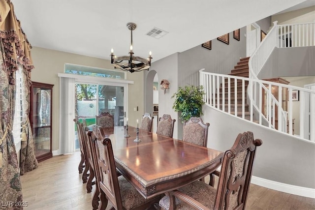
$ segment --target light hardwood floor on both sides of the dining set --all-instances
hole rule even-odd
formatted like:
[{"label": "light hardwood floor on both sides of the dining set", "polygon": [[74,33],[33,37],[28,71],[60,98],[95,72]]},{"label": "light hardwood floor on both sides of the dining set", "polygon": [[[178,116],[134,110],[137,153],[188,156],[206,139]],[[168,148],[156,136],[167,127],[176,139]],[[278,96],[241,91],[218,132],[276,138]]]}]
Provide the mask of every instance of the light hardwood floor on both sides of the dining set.
[{"label": "light hardwood floor on both sides of the dining set", "polygon": [[[78,173],[80,153],[54,156],[21,176],[25,210],[92,210]],[[216,183],[218,181],[216,180]],[[95,188],[95,187],[94,187]],[[109,204],[106,210],[109,210]],[[315,210],[315,199],[291,195],[251,184],[247,210]]]}]

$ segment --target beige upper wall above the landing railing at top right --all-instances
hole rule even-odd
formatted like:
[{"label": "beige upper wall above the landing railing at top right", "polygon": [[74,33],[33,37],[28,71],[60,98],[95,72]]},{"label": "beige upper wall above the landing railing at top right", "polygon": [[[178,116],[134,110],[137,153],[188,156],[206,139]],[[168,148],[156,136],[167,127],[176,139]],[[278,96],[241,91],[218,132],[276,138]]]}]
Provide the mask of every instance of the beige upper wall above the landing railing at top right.
[{"label": "beige upper wall above the landing railing at top right", "polygon": [[273,15],[271,21],[278,21],[278,25],[292,23],[314,23],[315,6],[298,9],[291,12],[285,12],[279,15]]}]

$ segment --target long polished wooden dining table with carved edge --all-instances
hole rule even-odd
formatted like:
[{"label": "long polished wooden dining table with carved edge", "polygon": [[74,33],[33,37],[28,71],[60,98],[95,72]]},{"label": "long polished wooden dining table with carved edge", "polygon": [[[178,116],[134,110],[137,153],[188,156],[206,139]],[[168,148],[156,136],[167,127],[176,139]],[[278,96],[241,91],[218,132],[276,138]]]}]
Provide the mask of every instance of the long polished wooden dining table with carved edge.
[{"label": "long polished wooden dining table with carved edge", "polygon": [[112,142],[116,169],[145,198],[177,189],[214,172],[223,153],[139,129],[103,128]]}]

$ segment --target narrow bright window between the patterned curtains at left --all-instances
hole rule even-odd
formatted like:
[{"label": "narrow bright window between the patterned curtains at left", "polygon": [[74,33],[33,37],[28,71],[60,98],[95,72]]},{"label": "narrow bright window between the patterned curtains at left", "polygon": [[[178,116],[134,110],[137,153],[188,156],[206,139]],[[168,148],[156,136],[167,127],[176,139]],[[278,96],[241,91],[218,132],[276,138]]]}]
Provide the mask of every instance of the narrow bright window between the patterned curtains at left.
[{"label": "narrow bright window between the patterned curtains at left", "polygon": [[13,120],[13,138],[16,152],[21,150],[21,133],[22,133],[22,66],[19,66],[16,71],[16,93],[15,93],[15,109],[14,109],[14,120]]}]

